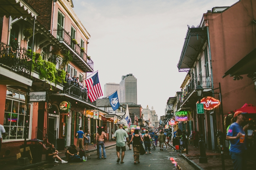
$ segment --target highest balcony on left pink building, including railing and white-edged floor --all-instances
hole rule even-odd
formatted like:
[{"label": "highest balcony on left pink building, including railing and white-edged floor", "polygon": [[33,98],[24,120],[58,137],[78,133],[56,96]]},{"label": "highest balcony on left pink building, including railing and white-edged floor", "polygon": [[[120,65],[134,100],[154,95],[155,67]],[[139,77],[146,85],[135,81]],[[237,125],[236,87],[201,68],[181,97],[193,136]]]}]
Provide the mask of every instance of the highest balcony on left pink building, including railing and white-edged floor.
[{"label": "highest balcony on left pink building, including railing and white-edged floor", "polygon": [[84,72],[93,72],[94,62],[92,60],[87,60],[86,52],[81,52],[81,47],[79,44],[74,44],[72,38],[65,29],[54,29],[53,36],[64,44],[68,50],[74,53],[74,62],[80,66]]}]

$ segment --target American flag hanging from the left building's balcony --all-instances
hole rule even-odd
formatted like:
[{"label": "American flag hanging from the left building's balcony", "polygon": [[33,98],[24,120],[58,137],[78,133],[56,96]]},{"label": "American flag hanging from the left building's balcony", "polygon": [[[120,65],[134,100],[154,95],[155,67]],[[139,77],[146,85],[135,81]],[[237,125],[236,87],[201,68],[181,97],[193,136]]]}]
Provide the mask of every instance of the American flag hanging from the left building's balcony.
[{"label": "American flag hanging from the left building's balcony", "polygon": [[91,102],[103,96],[100,81],[98,80],[98,72],[90,79],[85,80],[85,83],[88,90],[88,97],[90,98]]}]

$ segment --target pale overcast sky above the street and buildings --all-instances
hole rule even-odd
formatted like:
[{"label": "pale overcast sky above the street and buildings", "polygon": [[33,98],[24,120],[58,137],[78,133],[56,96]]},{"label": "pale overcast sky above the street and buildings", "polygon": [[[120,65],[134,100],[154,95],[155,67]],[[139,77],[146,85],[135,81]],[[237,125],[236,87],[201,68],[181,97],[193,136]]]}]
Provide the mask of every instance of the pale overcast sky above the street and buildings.
[{"label": "pale overcast sky above the street and buildings", "polygon": [[237,1],[73,0],[73,10],[91,35],[87,55],[102,92],[104,84],[120,83],[122,75],[132,73],[137,104],[154,106],[160,118],[187,74],[177,68],[187,25],[197,26],[207,10]]}]

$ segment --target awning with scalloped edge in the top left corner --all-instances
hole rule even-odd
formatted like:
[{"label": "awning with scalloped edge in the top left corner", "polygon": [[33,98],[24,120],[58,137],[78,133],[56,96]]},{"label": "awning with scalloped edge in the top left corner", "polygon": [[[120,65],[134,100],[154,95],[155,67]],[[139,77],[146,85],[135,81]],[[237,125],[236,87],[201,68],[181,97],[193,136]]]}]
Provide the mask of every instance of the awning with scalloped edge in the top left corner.
[{"label": "awning with scalloped edge in the top left corner", "polygon": [[0,0],[0,17],[37,17],[38,13],[24,0]]}]

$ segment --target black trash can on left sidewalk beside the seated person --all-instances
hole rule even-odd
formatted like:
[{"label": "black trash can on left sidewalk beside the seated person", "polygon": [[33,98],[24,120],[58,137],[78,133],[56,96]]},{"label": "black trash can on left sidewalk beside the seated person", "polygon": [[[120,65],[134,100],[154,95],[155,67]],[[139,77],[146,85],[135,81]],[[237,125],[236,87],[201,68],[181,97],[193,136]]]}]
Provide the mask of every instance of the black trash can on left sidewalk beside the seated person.
[{"label": "black trash can on left sidewalk beside the seated person", "polygon": [[[32,163],[42,162],[42,154],[43,154],[43,145],[37,144],[29,144],[26,147],[30,147],[30,152],[32,155]],[[24,145],[21,146],[24,148]]]}]

